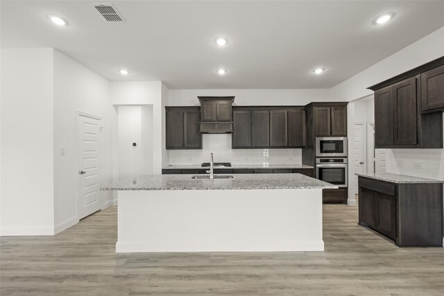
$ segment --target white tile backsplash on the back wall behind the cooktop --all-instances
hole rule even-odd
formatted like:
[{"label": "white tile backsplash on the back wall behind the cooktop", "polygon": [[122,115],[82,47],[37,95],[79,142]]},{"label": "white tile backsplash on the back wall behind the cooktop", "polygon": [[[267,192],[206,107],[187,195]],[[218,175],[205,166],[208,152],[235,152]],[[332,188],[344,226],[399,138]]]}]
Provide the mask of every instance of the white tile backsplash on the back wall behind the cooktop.
[{"label": "white tile backsplash on the back wall behind the cooktop", "polygon": [[168,150],[169,164],[187,165],[210,162],[232,164],[302,164],[301,149],[232,149],[231,134],[203,134],[201,150]]}]

